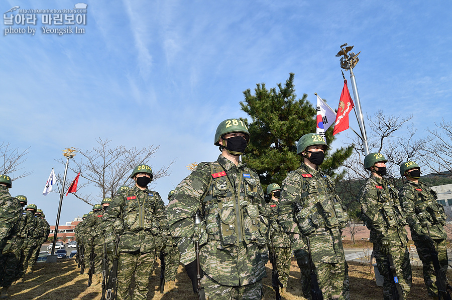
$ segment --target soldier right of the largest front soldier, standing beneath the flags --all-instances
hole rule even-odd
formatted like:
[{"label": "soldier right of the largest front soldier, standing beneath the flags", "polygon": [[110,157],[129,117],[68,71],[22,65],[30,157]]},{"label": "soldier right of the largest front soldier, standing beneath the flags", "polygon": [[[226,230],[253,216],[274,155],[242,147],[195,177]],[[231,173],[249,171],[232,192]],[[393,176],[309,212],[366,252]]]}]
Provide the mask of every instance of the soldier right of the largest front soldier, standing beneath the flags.
[{"label": "soldier right of the largest front soldier, standing beneath the flags", "polygon": [[323,298],[350,299],[348,266],[341,239],[347,213],[335,193],[334,182],[318,167],[327,148],[318,134],[308,133],[298,140],[297,154],[303,157],[303,162],[282,183],[279,221],[290,234],[301,269],[304,296],[311,299],[306,244],[309,238],[314,272]]}]

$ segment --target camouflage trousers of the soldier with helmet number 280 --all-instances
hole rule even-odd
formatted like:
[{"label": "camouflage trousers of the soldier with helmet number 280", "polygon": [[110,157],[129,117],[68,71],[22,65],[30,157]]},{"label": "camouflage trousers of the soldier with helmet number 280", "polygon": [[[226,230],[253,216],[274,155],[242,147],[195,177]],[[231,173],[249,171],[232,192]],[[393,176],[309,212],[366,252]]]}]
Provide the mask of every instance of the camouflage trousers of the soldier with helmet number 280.
[{"label": "camouflage trousers of the soldier with helmet number 280", "polygon": [[[154,252],[120,252],[118,259],[118,300],[146,299],[153,265]],[[135,288],[131,298],[129,289],[134,273]]]}]

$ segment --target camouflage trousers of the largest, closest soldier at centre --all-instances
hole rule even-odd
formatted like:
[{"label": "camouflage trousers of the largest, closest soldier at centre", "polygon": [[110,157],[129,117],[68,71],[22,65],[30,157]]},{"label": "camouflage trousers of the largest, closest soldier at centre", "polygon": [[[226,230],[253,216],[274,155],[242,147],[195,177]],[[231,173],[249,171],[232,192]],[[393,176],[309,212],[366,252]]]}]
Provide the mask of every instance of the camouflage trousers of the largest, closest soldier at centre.
[{"label": "camouflage trousers of the largest, closest soldier at centre", "polygon": [[262,299],[262,280],[242,286],[221,285],[206,274],[201,279],[206,300],[260,300]]}]

